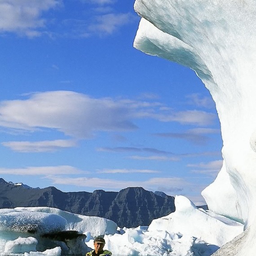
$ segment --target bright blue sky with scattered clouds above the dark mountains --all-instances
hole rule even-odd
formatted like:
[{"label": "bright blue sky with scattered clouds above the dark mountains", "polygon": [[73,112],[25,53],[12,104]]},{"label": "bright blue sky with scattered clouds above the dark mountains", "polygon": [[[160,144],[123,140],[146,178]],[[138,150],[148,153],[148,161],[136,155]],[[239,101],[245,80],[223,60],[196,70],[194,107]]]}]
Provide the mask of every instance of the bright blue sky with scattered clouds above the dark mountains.
[{"label": "bright blue sky with scattered clouds above the dark mountains", "polygon": [[139,21],[133,1],[0,0],[0,177],[202,202],[215,104],[194,71],[133,48]]}]

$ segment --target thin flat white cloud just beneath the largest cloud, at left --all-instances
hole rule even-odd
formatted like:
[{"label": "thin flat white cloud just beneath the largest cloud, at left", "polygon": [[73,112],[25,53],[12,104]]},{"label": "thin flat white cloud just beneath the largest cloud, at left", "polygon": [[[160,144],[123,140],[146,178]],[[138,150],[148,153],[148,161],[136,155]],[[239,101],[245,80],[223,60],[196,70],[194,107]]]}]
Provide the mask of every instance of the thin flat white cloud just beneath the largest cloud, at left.
[{"label": "thin flat white cloud just beneath the largest cloud, at left", "polygon": [[63,148],[75,147],[76,141],[73,140],[54,140],[54,141],[8,141],[2,142],[3,146],[9,147],[17,152],[53,152]]}]

